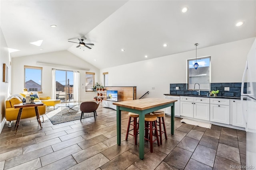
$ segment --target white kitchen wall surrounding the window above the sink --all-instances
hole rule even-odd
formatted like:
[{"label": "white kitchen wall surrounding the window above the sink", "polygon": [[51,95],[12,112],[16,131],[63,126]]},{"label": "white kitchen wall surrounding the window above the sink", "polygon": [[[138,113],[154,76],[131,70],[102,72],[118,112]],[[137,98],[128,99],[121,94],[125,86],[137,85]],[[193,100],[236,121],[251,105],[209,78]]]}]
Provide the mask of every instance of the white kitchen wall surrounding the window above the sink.
[{"label": "white kitchen wall surrounding the window above the sink", "polygon": [[[211,56],[212,83],[241,82],[246,57],[254,38],[215,45],[197,50],[197,57]],[[137,98],[147,91],[145,98],[163,98],[170,93],[170,83],[186,83],[187,59],[196,57],[195,50],[147,59],[131,64],[115,66],[100,70],[108,72],[109,86],[137,86]],[[152,90],[152,87],[155,89]]]}]

